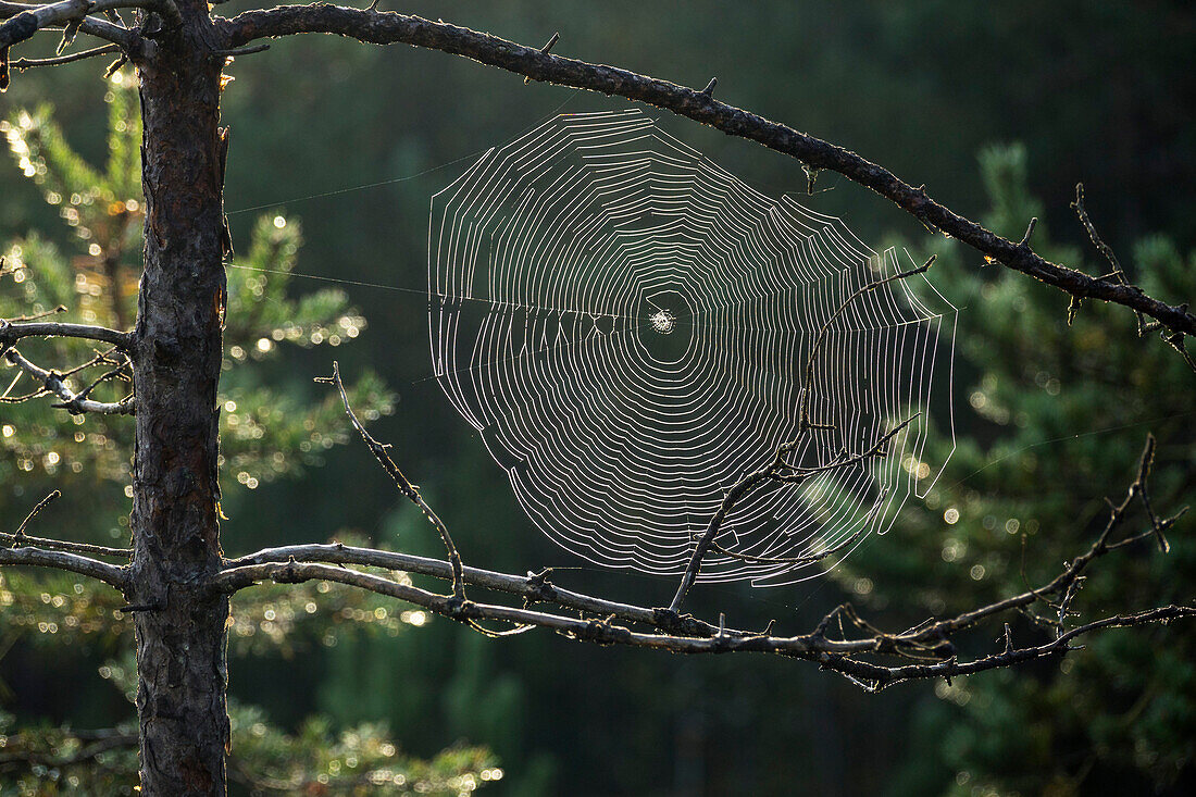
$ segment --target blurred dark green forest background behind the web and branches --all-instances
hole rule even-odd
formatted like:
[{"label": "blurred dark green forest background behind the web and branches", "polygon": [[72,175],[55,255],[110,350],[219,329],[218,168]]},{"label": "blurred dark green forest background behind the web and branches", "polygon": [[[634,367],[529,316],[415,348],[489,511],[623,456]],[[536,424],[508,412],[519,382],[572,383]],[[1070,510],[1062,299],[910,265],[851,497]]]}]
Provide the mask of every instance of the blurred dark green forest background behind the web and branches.
[{"label": "blurred dark green forest background behind the web and branches", "polygon": [[[232,16],[252,5],[219,8]],[[1037,250],[1103,273],[1068,208],[1082,181],[1130,279],[1171,303],[1196,297],[1196,8],[1188,2],[413,0],[396,10],[529,44],[560,31],[559,54],[690,86],[718,75],[721,99],[925,182],[1002,235],[1020,238],[1041,217]],[[108,129],[115,120],[128,132],[135,120],[122,105],[129,95],[100,72],[91,61],[14,74],[0,101],[18,151],[0,168],[0,249],[28,266],[20,281],[0,276],[2,315],[30,302],[61,302],[71,320],[132,314],[136,154]],[[557,111],[624,107],[438,53],[332,37],[276,42],[226,72],[236,79],[224,120],[237,262],[401,288],[426,286],[429,196],[474,156]],[[45,102],[53,111],[37,111]],[[655,115],[763,193],[805,190],[795,160]],[[65,154],[51,118],[99,171]],[[96,188],[80,190],[80,181]],[[873,248],[940,255],[930,278],[962,308],[958,450],[925,503],[908,504],[892,531],[829,577],[768,591],[702,586],[692,609],[724,610],[742,627],[775,619],[797,632],[852,600],[899,629],[1020,590],[1024,549],[1036,583],[1087,547],[1104,495],[1129,485],[1147,431],[1160,444],[1157,505],[1191,500],[1194,377],[1157,339],[1136,337],[1133,314],[1085,306],[1069,328],[1061,294],[984,268],[835,175],[817,188],[829,190],[799,200],[842,215]],[[51,194],[56,203],[45,201]],[[121,264],[105,273],[112,247]],[[466,564],[575,568],[556,578],[636,603],[671,596],[670,580],[597,571],[531,527],[428,378],[419,293],[238,269],[230,281],[226,553],[335,536],[440,555],[368,452],[336,445],[350,442],[344,421],[312,384],[336,358],[377,419],[374,434],[395,444]],[[132,421],[73,424],[42,403],[0,404],[0,527],[12,530],[59,487],[65,497],[31,534],[126,544]],[[936,455],[950,445],[944,434]],[[1190,521],[1178,525],[1167,556],[1143,547],[1103,560],[1080,608],[1191,602],[1192,533]],[[4,741],[33,744],[30,729],[59,741],[71,736],[66,725],[127,730],[132,661],[121,651],[132,623],[114,617],[116,598],[61,577],[0,578],[0,766]],[[803,663],[683,659],[544,633],[492,640],[380,598],[288,592],[263,588],[233,606],[242,792],[270,785],[246,774],[254,767],[275,773],[274,785],[358,783],[344,777],[366,761],[393,762],[396,749],[410,756],[403,789],[494,795],[1180,795],[1196,784],[1190,626],[1112,632],[1062,664],[869,696]],[[1014,633],[1042,632],[1019,619]],[[78,743],[47,742],[47,761]],[[114,755],[108,763],[120,769]],[[294,779],[279,781],[280,772]],[[66,789],[90,775],[72,777],[49,765],[36,777],[0,768],[0,792],[22,793],[38,778]]]}]

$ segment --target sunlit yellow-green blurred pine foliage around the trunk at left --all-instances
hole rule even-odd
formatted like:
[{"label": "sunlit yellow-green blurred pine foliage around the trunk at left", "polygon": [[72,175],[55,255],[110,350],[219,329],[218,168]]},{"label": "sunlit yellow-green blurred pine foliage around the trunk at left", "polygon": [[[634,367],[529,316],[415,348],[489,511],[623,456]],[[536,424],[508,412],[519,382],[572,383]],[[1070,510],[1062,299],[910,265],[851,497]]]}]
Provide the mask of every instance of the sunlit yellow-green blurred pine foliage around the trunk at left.
[{"label": "sunlit yellow-green blurred pine foliage around the trunk at left", "polygon": [[[74,248],[65,249],[31,233],[4,253],[0,317],[53,316],[118,329],[129,328],[136,317],[145,208],[133,78],[115,73],[105,102],[108,160],[102,170],[71,147],[49,105],[17,111],[0,122],[17,168],[59,208],[75,241]],[[352,431],[340,397],[304,401],[297,391],[264,387],[260,373],[267,361],[281,360],[288,347],[348,345],[366,328],[342,291],[292,296],[300,245],[294,219],[263,217],[252,230],[248,254],[228,268],[220,395],[226,498],[234,489],[255,489],[321,466],[327,450],[347,442]],[[28,348],[38,364],[67,376],[72,390],[118,371],[116,379],[96,385],[89,396],[118,401],[129,393],[128,372],[116,352],[72,339]],[[72,371],[81,364],[89,366]],[[39,384],[18,376],[17,369],[4,376],[0,483],[7,489],[0,493],[0,511],[23,517],[42,495],[60,489],[63,498],[55,509],[72,518],[75,539],[127,544],[132,421],[87,414],[63,424],[63,410],[53,409],[50,401],[22,401],[39,394]],[[366,420],[392,412],[393,395],[372,372],[365,372],[349,393]],[[96,518],[118,518],[118,527],[87,527]],[[67,573],[6,568],[0,573],[0,658],[18,644],[68,645],[102,657],[129,651],[133,623],[118,610],[122,603],[112,590]],[[230,655],[289,658],[313,645],[334,645],[341,633],[393,635],[425,622],[421,613],[392,609],[377,595],[322,583],[254,590],[233,602]],[[132,793],[138,781],[133,671],[132,661],[109,661],[99,668],[100,676],[130,700],[127,722],[114,728],[80,731],[18,722],[0,712],[0,796]],[[0,706],[12,696],[12,688],[0,681]],[[233,702],[230,713],[230,778],[251,793],[468,795],[502,777],[481,748],[462,746],[427,761],[407,756],[379,724],[337,730],[313,718],[287,734],[255,706]]]}]

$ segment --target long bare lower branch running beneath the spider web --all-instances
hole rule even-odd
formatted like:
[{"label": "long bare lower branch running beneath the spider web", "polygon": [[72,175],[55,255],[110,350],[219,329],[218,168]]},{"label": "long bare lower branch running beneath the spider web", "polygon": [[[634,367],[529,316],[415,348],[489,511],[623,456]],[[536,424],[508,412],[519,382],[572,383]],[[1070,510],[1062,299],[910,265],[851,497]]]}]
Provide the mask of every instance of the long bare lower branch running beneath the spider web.
[{"label": "long bare lower branch running beneath the spider web", "polygon": [[[338,371],[334,371],[334,384],[337,377]],[[348,412],[352,412],[352,408]],[[379,446],[383,452],[386,450],[377,440],[371,450],[374,450],[374,446]],[[628,645],[676,653],[774,653],[814,662],[822,669],[832,670],[866,689],[877,690],[902,681],[950,679],[1064,653],[1072,649],[1072,643],[1076,638],[1104,628],[1170,622],[1196,615],[1196,607],[1167,606],[1139,613],[1110,615],[1073,627],[1067,626],[1068,619],[1075,615],[1074,601],[1084,572],[1096,559],[1147,539],[1155,539],[1160,549],[1165,550],[1165,535],[1183,511],[1163,518],[1151,505],[1147,483],[1153,456],[1154,438],[1151,437],[1143,450],[1137,476],[1130,485],[1125,499],[1121,504],[1110,504],[1110,517],[1104,531],[1087,552],[1068,562],[1063,573],[1038,589],[952,617],[930,619],[899,633],[887,633],[874,627],[850,604],[837,607],[812,632],[804,634],[775,634],[771,632],[773,623],[769,623],[769,628],[764,632],[736,629],[727,626],[725,616],[720,616],[719,622],[714,623],[689,614],[682,615],[672,608],[633,606],[567,590],[549,580],[551,571],[514,576],[466,567],[460,565],[459,558],[457,561],[444,561],[341,543],[267,548],[238,559],[228,559],[222,562],[220,572],[212,579],[209,586],[231,595],[264,580],[282,584],[307,580],[336,582],[405,601],[441,616],[465,622],[483,633],[499,633],[481,625],[498,622],[509,626],[511,631],[506,633],[545,628],[580,641]],[[388,455],[386,461],[389,460]],[[379,458],[379,462],[383,460]],[[1113,534],[1125,524],[1134,503],[1140,503],[1145,509],[1149,528],[1113,540]],[[448,595],[440,595],[396,580],[385,573],[354,567],[431,576],[450,582],[453,589]],[[459,597],[463,595],[462,584],[511,595],[520,600],[521,606],[464,600]],[[1054,623],[1054,633],[1048,641],[1019,647],[1007,633],[1001,651],[971,661],[958,658],[952,641],[956,634],[975,629],[997,615],[1026,609],[1035,603],[1044,603],[1058,613],[1060,620]],[[533,608],[537,604],[557,607],[575,614],[566,615]],[[841,631],[840,638],[834,638],[829,631],[836,622],[841,629],[853,628],[858,633],[848,635],[846,631]],[[897,658],[901,663],[887,664],[886,658]]]}]

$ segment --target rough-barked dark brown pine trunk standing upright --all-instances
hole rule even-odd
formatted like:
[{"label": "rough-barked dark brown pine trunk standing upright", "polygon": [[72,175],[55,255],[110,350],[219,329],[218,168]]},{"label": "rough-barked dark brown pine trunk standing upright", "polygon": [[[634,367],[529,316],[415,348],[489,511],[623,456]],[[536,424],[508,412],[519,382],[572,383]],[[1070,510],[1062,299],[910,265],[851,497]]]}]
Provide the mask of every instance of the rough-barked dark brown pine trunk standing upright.
[{"label": "rough-barked dark brown pine trunk standing upright", "polygon": [[133,467],[141,793],[224,795],[228,601],[220,566],[216,383],[221,247],[221,56],[205,2],[139,65],[145,275],[138,308]]}]

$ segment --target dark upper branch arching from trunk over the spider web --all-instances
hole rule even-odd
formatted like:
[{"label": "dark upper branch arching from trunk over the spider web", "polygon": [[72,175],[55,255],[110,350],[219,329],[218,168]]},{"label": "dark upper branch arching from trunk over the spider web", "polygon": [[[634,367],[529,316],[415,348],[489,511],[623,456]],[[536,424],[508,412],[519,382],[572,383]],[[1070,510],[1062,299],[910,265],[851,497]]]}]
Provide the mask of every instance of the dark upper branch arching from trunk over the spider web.
[{"label": "dark upper branch arching from trunk over the spider web", "polygon": [[871,188],[923,224],[964,242],[993,261],[1046,282],[1072,297],[1113,302],[1141,311],[1172,331],[1196,335],[1196,316],[1185,305],[1172,306],[1118,280],[1093,278],[1051,263],[1035,254],[1029,242],[1013,243],[935,202],[925,188],[915,188],[874,163],[843,147],[769,121],[714,99],[695,89],[636,74],[628,69],[567,59],[541,48],[458,28],[444,22],[390,12],[361,11],[331,5],[280,6],[246,11],[216,20],[230,45],[293,34],[337,34],[373,44],[413,44],[462,55],[532,80],[618,95],[709,124],[730,135],[757,141],[792,156],[814,170],[838,172]]}]

